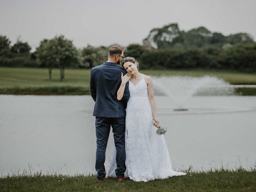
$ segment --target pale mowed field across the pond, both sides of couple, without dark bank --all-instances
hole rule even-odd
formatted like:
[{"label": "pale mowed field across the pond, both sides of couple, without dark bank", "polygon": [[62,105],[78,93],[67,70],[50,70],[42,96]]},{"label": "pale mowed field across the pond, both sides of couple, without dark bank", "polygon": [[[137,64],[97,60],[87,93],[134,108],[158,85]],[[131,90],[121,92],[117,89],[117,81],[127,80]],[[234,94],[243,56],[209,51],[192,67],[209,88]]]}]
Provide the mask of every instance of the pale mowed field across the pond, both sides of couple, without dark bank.
[{"label": "pale mowed field across the pond, both sides of couple, without dark bank", "polygon": [[[224,72],[210,70],[140,70],[150,76],[216,76],[230,84],[256,84],[256,73]],[[41,87],[41,86],[75,86],[89,87],[90,70],[65,69],[65,78],[60,81],[60,70],[52,70],[49,80],[47,68],[0,68],[0,88],[6,87]]]}]

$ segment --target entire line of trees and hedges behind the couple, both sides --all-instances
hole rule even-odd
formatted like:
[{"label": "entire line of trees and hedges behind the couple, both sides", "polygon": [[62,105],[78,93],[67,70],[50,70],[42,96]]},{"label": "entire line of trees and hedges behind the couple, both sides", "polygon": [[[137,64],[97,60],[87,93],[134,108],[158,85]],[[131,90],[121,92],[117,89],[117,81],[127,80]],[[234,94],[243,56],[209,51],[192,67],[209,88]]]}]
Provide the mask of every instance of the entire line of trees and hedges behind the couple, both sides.
[{"label": "entire line of trees and hedges behind the couple, both sides", "polygon": [[[110,46],[86,46],[77,49],[72,40],[63,35],[40,42],[35,52],[27,42],[18,38],[11,46],[6,36],[0,35],[0,66],[60,69],[92,68],[108,58]],[[180,31],[177,24],[153,29],[143,44],[130,44],[125,56],[140,62],[141,69],[218,69],[256,72],[256,43],[248,34],[223,36],[200,27]]]}]

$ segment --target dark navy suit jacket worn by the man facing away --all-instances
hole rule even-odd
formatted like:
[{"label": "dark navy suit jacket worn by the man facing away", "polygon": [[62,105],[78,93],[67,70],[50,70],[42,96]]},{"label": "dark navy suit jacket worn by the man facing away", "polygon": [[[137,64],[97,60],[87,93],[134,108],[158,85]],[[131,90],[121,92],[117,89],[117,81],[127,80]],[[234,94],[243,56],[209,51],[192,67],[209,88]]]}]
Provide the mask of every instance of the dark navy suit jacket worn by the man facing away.
[{"label": "dark navy suit jacket worn by the man facing away", "polygon": [[126,116],[126,106],[130,97],[129,82],[126,83],[122,100],[117,100],[121,85],[121,72],[127,72],[113,62],[105,62],[92,68],[90,91],[95,101],[93,116],[120,118]]}]

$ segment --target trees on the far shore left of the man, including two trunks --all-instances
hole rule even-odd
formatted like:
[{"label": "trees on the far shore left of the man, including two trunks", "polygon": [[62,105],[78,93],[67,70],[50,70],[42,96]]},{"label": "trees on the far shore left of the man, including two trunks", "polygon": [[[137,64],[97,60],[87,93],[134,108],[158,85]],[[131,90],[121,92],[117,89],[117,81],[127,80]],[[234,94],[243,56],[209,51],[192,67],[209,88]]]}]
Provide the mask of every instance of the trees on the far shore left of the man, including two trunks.
[{"label": "trees on the far shore left of the man, including two trunks", "polygon": [[92,68],[102,64],[108,58],[108,48],[88,45],[77,49],[72,40],[63,35],[44,39],[30,53],[31,47],[19,38],[10,46],[11,42],[6,36],[0,35],[0,66],[7,67],[40,67],[48,68],[49,79],[52,79],[52,69],[60,68],[60,80],[64,79],[64,69]]}]

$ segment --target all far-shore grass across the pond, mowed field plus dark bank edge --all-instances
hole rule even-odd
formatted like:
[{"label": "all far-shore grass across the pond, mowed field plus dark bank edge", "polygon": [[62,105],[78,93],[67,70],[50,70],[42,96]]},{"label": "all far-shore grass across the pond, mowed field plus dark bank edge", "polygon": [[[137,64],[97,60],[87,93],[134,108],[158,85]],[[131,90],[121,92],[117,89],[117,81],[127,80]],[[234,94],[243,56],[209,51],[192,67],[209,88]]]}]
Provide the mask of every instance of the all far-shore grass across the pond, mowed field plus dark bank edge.
[{"label": "all far-shore grass across the pond, mowed field plus dark bank edge", "polygon": [[[256,84],[256,74],[211,70],[140,70],[150,76],[216,76],[230,84]],[[66,69],[60,81],[59,69],[52,70],[49,80],[46,68],[0,67],[0,94],[88,95],[90,70]],[[256,88],[236,88],[238,95],[256,95]]]}]

